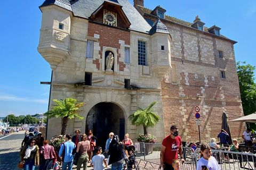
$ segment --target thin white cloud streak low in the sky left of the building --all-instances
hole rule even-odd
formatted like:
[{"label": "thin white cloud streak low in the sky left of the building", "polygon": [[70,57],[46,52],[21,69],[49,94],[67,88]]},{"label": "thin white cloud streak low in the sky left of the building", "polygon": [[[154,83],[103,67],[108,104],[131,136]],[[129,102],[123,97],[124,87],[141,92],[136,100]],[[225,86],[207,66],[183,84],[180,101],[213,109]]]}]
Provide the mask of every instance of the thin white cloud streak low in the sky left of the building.
[{"label": "thin white cloud streak low in the sky left of the building", "polygon": [[0,92],[0,100],[2,101],[20,101],[20,102],[35,102],[47,104],[48,99],[30,99],[30,98],[20,98],[14,95],[5,94],[4,92]]}]

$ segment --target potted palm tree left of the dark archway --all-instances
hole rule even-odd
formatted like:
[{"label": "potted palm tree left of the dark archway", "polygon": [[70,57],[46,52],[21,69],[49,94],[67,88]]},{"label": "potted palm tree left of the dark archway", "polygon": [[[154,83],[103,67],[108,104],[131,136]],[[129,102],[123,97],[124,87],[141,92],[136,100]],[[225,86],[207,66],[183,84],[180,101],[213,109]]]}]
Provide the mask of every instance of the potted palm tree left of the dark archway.
[{"label": "potted palm tree left of the dark archway", "polygon": [[82,110],[78,110],[79,108],[86,105],[86,103],[78,103],[76,99],[73,98],[65,98],[64,100],[60,99],[61,101],[57,99],[53,99],[53,101],[57,105],[53,105],[51,111],[47,111],[45,115],[48,118],[52,117],[61,117],[61,134],[65,135],[67,132],[68,127],[68,121],[71,118],[78,117],[79,119],[83,119],[84,117],[79,116],[78,112],[81,112]]}]

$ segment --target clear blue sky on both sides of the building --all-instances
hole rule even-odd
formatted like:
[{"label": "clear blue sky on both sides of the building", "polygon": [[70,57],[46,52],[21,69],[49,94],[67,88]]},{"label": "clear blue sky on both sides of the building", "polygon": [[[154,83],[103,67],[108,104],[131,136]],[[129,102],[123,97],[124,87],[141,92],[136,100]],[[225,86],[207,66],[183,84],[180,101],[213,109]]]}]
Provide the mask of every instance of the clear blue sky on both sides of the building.
[{"label": "clear blue sky on both sides of the building", "polygon": [[[0,117],[47,111],[50,86],[40,81],[51,80],[51,69],[37,52],[42,17],[38,6],[43,2],[1,2]],[[158,5],[165,8],[166,15],[188,22],[199,15],[205,27],[220,27],[223,36],[238,41],[234,45],[236,61],[256,65],[256,1],[144,0],[151,10]]]}]

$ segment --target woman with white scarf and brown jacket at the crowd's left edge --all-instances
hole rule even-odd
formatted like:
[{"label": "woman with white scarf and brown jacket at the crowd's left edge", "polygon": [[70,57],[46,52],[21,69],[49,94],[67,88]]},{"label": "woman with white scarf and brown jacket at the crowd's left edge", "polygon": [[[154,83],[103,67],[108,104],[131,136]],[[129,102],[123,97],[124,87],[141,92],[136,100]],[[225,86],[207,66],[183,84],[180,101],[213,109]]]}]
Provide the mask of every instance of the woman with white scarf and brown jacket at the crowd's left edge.
[{"label": "woman with white scarf and brown jacket at the crowd's left edge", "polygon": [[36,139],[28,141],[20,151],[20,164],[23,164],[24,170],[34,170],[39,165],[39,147],[36,145]]}]

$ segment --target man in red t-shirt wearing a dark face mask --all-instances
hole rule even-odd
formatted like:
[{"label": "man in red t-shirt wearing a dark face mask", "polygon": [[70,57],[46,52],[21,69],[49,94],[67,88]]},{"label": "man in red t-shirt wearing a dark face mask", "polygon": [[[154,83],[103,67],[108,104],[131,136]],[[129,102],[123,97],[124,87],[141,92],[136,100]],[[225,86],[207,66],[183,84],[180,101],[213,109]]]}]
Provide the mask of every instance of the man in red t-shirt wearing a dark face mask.
[{"label": "man in red t-shirt wearing a dark face mask", "polygon": [[181,138],[178,136],[178,128],[175,125],[171,126],[171,134],[167,135],[162,142],[161,147],[161,167],[164,170],[173,170],[172,167],[172,160],[178,159],[178,150],[180,154],[181,162],[185,162],[182,157],[182,145],[181,145]]}]

